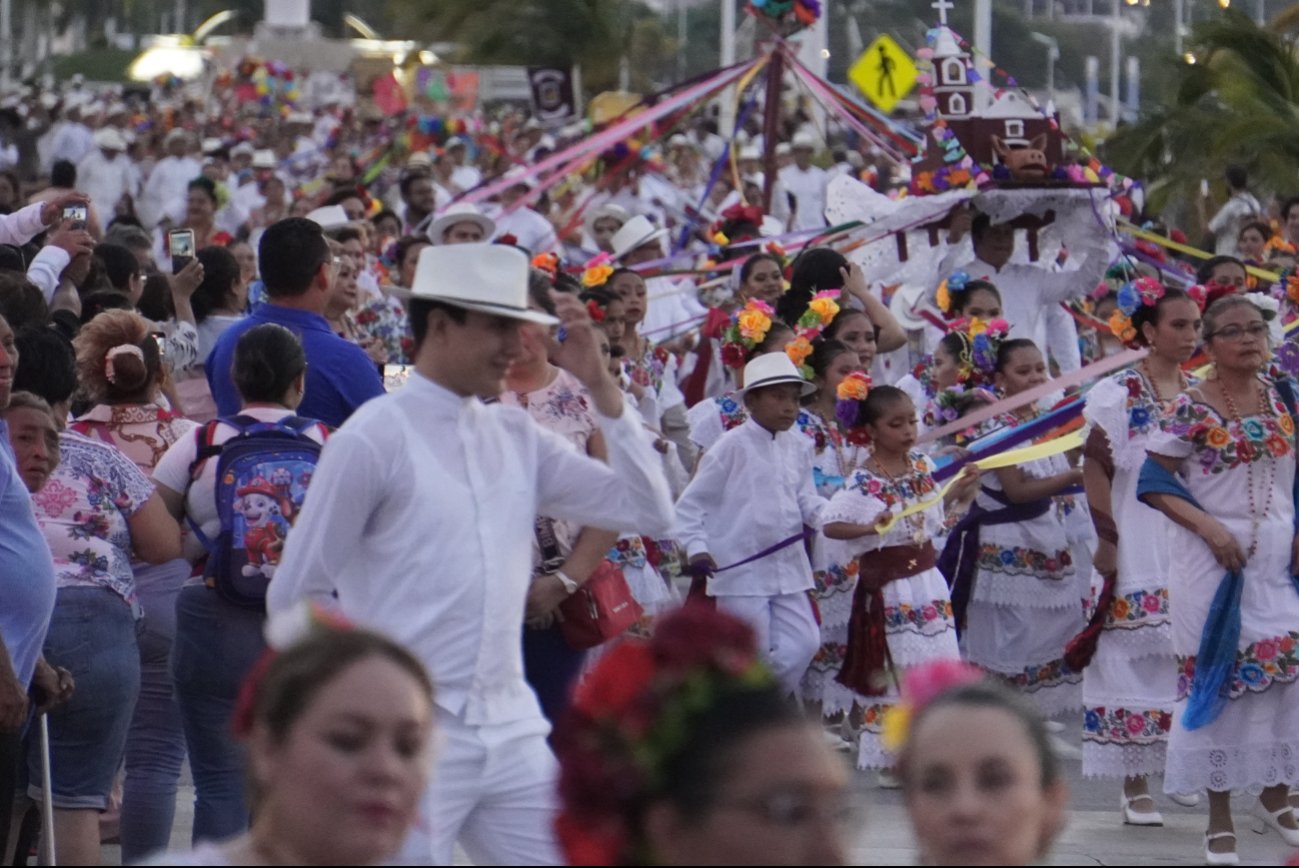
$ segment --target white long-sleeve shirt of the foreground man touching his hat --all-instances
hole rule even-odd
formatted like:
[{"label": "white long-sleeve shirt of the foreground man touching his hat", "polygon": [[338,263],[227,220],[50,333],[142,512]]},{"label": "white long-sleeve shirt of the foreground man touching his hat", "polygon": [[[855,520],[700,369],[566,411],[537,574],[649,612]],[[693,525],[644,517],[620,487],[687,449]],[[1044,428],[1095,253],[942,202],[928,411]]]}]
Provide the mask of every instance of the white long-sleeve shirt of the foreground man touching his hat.
[{"label": "white long-sleeve shirt of the foreground man touching his hat", "polygon": [[270,613],[301,598],[403,642],[438,706],[472,726],[538,717],[520,630],[538,515],[666,535],[672,499],[635,413],[599,417],[608,465],[514,407],[420,374],[329,440],[270,582]]}]

